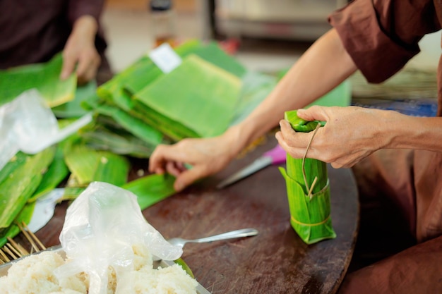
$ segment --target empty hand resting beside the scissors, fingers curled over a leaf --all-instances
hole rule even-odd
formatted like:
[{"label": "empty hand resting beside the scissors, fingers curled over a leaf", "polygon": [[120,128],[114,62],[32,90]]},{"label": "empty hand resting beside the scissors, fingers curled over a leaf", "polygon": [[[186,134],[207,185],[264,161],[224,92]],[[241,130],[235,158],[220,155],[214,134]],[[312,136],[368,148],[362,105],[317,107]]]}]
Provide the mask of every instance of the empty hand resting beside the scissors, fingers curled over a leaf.
[{"label": "empty hand resting beside the scissors, fingers curled over a leaf", "polygon": [[[196,180],[224,169],[239,152],[236,143],[226,135],[221,135],[205,139],[183,139],[174,145],[159,145],[150,156],[149,171],[167,172],[175,176],[174,189],[178,192]],[[190,164],[191,169],[186,169],[184,164]]]}]

